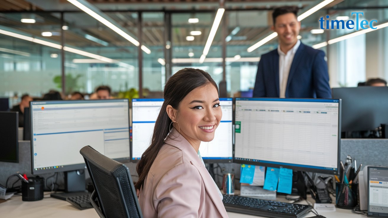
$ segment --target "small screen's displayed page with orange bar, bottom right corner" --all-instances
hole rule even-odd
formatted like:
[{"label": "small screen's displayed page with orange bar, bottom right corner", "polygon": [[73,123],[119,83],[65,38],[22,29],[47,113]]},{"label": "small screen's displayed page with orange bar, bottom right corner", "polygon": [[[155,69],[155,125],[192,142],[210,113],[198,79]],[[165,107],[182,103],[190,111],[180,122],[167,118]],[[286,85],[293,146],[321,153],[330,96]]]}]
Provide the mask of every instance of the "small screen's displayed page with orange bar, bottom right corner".
[{"label": "small screen's displayed page with orange bar, bottom right corner", "polygon": [[388,214],[388,167],[368,167],[369,212]]}]

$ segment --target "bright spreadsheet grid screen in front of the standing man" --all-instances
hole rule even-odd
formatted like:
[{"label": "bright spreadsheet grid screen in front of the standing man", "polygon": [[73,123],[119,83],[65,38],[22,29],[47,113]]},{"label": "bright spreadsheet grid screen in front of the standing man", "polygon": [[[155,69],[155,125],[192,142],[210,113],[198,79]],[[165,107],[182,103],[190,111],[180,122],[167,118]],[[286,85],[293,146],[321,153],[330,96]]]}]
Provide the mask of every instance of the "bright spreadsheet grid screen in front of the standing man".
[{"label": "bright spreadsheet grid screen in front of the standing man", "polygon": [[236,98],[234,162],[337,174],[340,99]]}]

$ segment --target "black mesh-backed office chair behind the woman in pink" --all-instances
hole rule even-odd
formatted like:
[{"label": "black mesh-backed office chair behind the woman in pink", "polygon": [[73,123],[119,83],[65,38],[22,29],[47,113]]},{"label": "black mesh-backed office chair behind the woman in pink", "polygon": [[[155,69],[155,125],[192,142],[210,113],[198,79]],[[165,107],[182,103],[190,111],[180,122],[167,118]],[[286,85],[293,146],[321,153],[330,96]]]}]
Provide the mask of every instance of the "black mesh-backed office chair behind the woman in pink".
[{"label": "black mesh-backed office chair behind the woman in pink", "polygon": [[142,218],[131,174],[124,164],[85,146],[80,150],[92,179],[90,197],[101,218]]}]

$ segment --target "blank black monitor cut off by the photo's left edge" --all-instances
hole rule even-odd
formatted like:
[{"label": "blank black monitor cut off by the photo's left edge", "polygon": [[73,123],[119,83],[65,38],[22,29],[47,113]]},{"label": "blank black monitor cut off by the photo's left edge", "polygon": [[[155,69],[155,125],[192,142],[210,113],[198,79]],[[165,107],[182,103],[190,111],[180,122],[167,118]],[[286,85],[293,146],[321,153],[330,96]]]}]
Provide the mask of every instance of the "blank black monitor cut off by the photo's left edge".
[{"label": "blank black monitor cut off by the photo's left edge", "polygon": [[19,162],[18,112],[0,112],[0,161]]}]

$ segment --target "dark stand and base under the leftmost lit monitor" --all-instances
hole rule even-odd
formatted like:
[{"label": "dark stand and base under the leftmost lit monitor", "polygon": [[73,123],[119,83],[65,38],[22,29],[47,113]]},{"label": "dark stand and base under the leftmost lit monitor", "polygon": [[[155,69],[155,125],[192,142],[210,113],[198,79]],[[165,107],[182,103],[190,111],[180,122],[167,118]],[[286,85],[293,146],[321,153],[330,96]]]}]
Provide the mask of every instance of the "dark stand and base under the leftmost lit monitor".
[{"label": "dark stand and base under the leftmost lit monitor", "polygon": [[51,197],[66,201],[68,197],[85,195],[85,170],[67,171],[64,175],[65,192],[51,194]]}]

